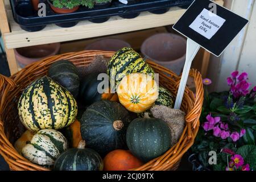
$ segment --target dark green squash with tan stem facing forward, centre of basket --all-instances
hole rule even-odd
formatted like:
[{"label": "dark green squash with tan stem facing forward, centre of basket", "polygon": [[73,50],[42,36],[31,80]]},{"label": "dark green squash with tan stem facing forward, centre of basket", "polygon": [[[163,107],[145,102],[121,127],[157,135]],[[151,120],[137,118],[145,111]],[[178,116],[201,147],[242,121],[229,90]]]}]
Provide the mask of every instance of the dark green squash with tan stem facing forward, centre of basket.
[{"label": "dark green squash with tan stem facing forward, centre of basket", "polygon": [[95,102],[82,114],[82,139],[104,156],[126,146],[125,134],[130,121],[129,112],[121,104],[107,100]]}]

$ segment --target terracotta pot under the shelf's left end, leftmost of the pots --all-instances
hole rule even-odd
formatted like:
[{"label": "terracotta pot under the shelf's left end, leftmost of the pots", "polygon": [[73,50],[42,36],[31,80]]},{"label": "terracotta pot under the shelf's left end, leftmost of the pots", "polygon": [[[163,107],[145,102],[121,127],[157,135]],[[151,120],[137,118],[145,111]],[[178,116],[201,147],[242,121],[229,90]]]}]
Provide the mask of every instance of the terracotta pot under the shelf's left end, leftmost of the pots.
[{"label": "terracotta pot under the shelf's left end, leftmost of the pots", "polygon": [[44,44],[14,49],[16,60],[20,67],[25,67],[35,61],[56,55],[60,50],[60,43]]}]

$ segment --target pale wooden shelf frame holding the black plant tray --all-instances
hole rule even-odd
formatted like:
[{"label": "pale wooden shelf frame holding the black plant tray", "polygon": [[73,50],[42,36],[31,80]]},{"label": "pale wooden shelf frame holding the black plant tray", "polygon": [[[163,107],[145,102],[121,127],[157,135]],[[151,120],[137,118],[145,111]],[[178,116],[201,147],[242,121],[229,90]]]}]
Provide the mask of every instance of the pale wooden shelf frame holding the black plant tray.
[{"label": "pale wooden shelf frame holding the black plant tray", "polygon": [[[216,0],[216,3],[223,5],[224,1]],[[143,12],[134,19],[123,19],[119,16],[113,16],[104,23],[82,21],[70,28],[61,28],[55,24],[49,24],[42,31],[27,32],[22,30],[14,21],[9,0],[0,0],[0,28],[5,41],[9,68],[11,74],[13,74],[18,71],[13,51],[14,48],[67,42],[167,26],[176,23],[184,12],[185,9],[172,7],[167,13],[160,15]]]}]

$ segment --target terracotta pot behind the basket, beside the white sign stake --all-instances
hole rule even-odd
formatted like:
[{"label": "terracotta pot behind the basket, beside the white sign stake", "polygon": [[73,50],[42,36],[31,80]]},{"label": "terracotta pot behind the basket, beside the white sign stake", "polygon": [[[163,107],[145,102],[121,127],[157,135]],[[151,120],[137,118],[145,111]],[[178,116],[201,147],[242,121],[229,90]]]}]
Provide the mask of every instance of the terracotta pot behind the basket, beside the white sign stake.
[{"label": "terracotta pot behind the basket, beside the white sign stake", "polygon": [[148,59],[180,75],[186,55],[186,40],[176,34],[161,33],[147,38],[141,47],[141,52]]}]

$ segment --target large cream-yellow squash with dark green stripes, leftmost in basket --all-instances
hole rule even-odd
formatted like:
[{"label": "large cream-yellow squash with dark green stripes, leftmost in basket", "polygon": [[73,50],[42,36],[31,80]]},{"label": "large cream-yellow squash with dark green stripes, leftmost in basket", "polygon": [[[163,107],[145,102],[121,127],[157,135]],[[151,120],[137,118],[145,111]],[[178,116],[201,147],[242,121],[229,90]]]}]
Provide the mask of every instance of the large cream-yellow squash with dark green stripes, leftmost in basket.
[{"label": "large cream-yellow squash with dark green stripes, leftmost in basket", "polygon": [[23,91],[18,112],[20,121],[29,130],[58,130],[75,121],[77,104],[67,89],[43,76]]}]

